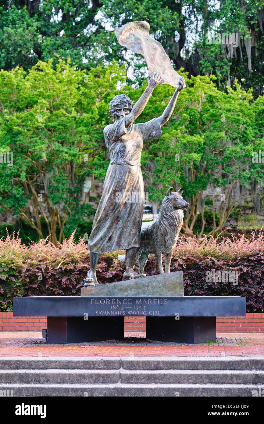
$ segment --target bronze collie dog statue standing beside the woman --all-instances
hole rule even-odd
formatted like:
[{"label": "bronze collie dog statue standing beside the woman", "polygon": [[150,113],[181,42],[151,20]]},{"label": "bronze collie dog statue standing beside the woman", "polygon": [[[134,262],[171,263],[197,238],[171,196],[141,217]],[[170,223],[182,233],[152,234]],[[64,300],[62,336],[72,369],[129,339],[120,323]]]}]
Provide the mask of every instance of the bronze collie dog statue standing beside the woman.
[{"label": "bronze collie dog statue standing beside the woman", "polygon": [[[135,263],[138,262],[139,273],[143,274],[147,259],[153,253],[158,265],[158,272],[163,274],[162,254],[165,256],[165,272],[170,272],[172,253],[177,243],[183,224],[183,211],[189,203],[182,198],[183,188],[177,192],[172,187],[164,197],[157,218],[150,222],[142,222],[140,247],[137,249]],[[119,262],[125,262],[125,255],[118,256]]]}]

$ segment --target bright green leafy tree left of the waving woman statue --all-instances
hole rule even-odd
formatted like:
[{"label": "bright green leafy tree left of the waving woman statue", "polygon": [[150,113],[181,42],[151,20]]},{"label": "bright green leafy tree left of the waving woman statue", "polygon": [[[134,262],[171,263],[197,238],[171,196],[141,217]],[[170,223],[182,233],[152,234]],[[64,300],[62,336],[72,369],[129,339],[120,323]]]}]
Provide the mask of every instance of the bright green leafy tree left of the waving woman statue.
[{"label": "bright green leafy tree left of the waving woman statue", "polygon": [[56,245],[65,225],[73,230],[92,215],[82,185],[86,176],[105,176],[103,126],[124,78],[116,64],[86,74],[61,60],[56,69],[50,60],[28,74],[19,67],[0,72],[0,153],[13,155],[13,166],[0,164],[0,206],[39,238],[43,220]]}]

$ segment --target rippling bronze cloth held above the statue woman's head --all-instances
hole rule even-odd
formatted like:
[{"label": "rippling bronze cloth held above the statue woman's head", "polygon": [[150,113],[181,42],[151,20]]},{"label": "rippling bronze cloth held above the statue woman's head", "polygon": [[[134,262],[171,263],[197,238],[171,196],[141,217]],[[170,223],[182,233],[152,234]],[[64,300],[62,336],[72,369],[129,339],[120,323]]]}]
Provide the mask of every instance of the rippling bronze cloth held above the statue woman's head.
[{"label": "rippling bronze cloth held above the statue woman's head", "polygon": [[114,32],[121,46],[145,57],[149,73],[155,71],[161,75],[160,84],[178,86],[180,75],[173,69],[162,45],[150,37],[150,25],[146,21],[129,22]]}]

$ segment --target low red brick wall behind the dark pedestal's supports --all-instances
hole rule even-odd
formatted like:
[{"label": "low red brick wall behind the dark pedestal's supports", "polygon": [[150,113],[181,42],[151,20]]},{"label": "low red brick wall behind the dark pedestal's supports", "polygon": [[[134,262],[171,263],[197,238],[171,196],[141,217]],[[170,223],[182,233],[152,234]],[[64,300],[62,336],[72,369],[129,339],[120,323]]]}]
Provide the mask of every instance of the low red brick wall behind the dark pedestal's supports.
[{"label": "low red brick wall behind the dark pedestal's supports", "polygon": [[[41,331],[47,328],[47,317],[13,317],[13,312],[0,312],[0,331]],[[264,313],[247,313],[244,317],[217,317],[218,333],[264,333]],[[145,317],[125,317],[125,332],[146,332]]]}]

